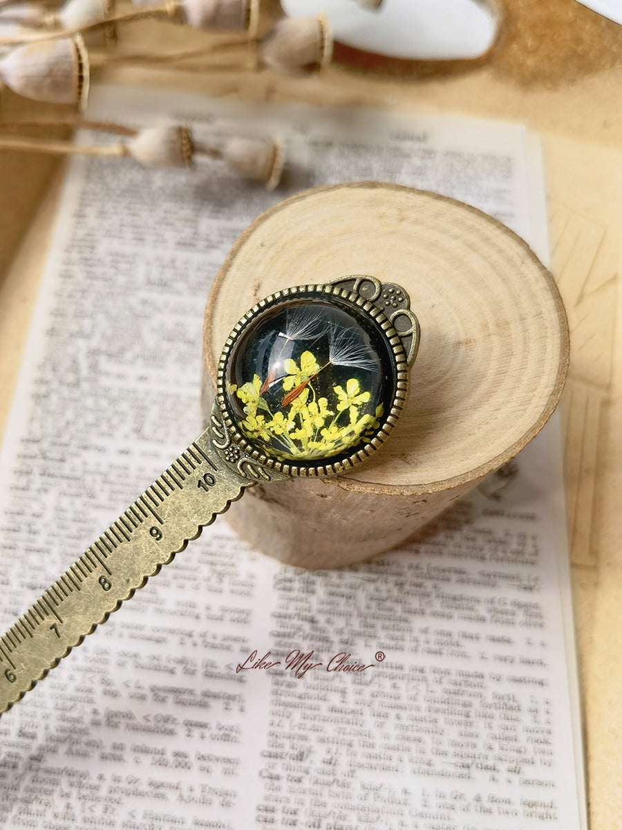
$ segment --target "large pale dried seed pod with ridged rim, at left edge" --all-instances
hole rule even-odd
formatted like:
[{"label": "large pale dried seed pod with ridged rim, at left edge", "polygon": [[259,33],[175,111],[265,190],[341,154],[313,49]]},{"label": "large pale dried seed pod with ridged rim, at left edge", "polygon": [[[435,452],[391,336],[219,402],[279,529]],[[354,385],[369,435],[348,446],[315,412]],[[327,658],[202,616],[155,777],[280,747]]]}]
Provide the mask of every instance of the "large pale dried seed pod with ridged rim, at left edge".
[{"label": "large pale dried seed pod with ridged rim, at left edge", "polygon": [[17,46],[0,60],[0,81],[17,95],[84,109],[89,95],[89,55],[80,36]]}]

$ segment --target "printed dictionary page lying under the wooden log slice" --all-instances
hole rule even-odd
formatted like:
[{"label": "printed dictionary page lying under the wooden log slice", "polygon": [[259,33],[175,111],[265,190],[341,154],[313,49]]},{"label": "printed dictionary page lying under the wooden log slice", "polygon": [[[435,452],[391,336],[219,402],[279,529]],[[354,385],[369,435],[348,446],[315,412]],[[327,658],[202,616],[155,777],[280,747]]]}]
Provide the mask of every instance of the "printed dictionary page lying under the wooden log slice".
[{"label": "printed dictionary page lying under the wooden log slice", "polygon": [[[207,292],[265,208],[388,180],[547,257],[519,126],[96,93],[94,118],[278,133],[289,173],[70,164],[0,457],[2,631],[201,431]],[[2,715],[0,827],[585,828],[558,443],[371,564],[284,566],[218,518]]]}]

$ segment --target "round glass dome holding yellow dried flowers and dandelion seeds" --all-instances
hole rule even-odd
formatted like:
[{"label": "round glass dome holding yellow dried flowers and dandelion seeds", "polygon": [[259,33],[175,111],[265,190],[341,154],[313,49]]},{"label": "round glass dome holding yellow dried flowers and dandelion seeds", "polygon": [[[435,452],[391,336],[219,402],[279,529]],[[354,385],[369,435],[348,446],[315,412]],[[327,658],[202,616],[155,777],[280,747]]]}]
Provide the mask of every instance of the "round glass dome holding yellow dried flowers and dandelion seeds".
[{"label": "round glass dome holding yellow dried flowers and dandelion seeds", "polygon": [[364,447],[391,412],[395,357],[357,306],[286,298],[236,339],[225,390],[236,429],[266,456],[338,461]]}]

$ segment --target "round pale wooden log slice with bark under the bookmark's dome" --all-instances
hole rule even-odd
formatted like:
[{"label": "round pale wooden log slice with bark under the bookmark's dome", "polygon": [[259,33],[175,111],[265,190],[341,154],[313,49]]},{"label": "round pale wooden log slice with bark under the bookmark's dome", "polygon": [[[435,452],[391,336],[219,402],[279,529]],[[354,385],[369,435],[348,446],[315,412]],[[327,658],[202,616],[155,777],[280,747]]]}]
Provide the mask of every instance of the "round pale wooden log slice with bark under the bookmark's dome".
[{"label": "round pale wooden log slice with bark under the bookmark's dome", "polygon": [[552,414],[569,357],[566,315],[526,243],[482,212],[392,184],[316,188],[250,225],[207,300],[203,417],[231,329],[287,286],[370,274],[406,288],[421,325],[390,439],[337,478],[250,488],[226,514],[255,548],[330,568],[396,547],[513,458]]}]

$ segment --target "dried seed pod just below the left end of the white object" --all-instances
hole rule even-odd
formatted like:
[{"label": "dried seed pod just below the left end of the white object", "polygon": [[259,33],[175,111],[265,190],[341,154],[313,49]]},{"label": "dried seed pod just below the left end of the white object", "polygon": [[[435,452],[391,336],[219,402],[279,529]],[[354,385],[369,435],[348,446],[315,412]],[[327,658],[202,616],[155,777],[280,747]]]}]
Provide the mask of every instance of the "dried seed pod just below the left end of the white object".
[{"label": "dried seed pod just below the left end of the white object", "polygon": [[258,59],[282,75],[309,75],[327,66],[333,56],[328,21],[317,17],[285,17],[260,41]]}]

